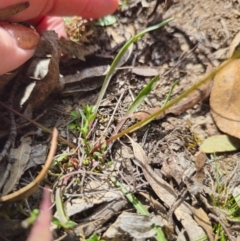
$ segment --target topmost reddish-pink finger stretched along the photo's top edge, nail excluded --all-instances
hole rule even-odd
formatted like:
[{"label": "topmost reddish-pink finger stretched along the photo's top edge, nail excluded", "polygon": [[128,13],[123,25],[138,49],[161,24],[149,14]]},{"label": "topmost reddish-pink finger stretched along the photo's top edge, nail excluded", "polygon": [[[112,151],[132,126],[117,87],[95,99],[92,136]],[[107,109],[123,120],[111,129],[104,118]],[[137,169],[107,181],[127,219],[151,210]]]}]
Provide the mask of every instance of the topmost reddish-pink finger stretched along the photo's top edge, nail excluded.
[{"label": "topmost reddish-pink finger stretched along the photo's top edge, nail excluded", "polygon": [[[22,2],[22,0],[2,1],[1,8]],[[72,16],[99,18],[113,13],[118,0],[30,0],[30,7],[10,18],[11,21],[25,21],[40,16]]]}]

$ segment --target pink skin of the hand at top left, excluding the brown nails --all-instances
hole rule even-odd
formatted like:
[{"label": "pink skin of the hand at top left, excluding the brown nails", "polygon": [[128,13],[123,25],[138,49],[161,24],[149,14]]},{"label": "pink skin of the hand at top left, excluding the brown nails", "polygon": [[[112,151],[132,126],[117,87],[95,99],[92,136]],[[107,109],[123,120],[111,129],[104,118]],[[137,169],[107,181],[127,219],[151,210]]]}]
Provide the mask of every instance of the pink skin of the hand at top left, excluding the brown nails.
[{"label": "pink skin of the hand at top left, excluding the brown nails", "polygon": [[[39,34],[55,30],[59,37],[66,37],[63,19],[60,16],[80,15],[84,18],[99,18],[113,13],[118,0],[28,0],[29,8],[7,19],[9,22],[27,21]],[[0,1],[0,9],[23,2],[23,0]],[[5,27],[3,27],[5,26]],[[23,49],[0,22],[0,75],[14,70],[32,57],[34,49]]]}]

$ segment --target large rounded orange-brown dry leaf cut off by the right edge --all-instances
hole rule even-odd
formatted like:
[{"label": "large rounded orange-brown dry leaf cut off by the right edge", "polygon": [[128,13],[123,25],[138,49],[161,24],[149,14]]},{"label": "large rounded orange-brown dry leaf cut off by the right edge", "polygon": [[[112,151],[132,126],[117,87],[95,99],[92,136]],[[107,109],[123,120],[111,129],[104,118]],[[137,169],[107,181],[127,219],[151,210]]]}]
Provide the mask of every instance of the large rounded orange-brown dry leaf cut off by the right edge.
[{"label": "large rounded orange-brown dry leaf cut off by the right edge", "polygon": [[240,138],[240,59],[233,60],[220,70],[210,96],[213,119],[218,128]]}]

